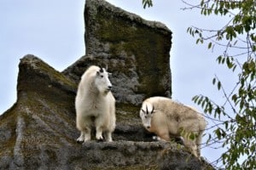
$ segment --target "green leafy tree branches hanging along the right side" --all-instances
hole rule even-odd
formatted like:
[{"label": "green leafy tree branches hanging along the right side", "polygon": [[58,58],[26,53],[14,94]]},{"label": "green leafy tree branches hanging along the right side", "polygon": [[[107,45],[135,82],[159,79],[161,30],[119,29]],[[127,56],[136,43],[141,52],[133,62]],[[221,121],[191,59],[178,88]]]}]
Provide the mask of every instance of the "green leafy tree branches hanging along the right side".
[{"label": "green leafy tree branches hanging along the right side", "polygon": [[198,8],[202,15],[229,19],[217,30],[195,26],[187,30],[196,37],[196,43],[207,43],[207,48],[212,50],[224,48],[224,53],[217,57],[218,65],[237,74],[237,82],[229,93],[218,76],[212,79],[212,84],[224,94],[223,104],[204,95],[197,95],[193,100],[201,105],[207,117],[216,121],[214,134],[209,134],[207,144],[218,143],[227,148],[216,162],[222,161],[225,169],[256,169],[256,2],[201,0],[196,5],[183,3],[187,5],[184,9]]}]

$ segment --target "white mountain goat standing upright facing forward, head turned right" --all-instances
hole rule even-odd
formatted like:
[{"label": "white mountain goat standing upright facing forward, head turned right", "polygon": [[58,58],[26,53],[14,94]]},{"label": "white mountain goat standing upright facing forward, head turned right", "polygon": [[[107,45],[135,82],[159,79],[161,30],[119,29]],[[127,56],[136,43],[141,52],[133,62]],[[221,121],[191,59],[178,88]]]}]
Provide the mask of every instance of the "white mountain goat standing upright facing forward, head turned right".
[{"label": "white mountain goat standing upright facing forward, head turned right", "polygon": [[113,141],[116,118],[111,88],[104,68],[92,65],[84,72],[75,99],[76,124],[81,132],[78,142],[90,141],[93,126],[96,127],[96,140],[103,140],[104,133],[106,141]]}]

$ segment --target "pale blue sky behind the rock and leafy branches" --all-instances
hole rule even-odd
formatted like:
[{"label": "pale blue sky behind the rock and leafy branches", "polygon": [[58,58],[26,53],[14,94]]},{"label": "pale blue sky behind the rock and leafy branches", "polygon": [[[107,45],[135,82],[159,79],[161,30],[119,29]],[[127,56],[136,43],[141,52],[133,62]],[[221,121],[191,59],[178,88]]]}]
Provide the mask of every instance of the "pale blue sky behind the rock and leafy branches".
[{"label": "pale blue sky behind the rock and leafy branches", "polygon": [[[228,88],[235,82],[233,74],[215,62],[218,54],[207,50],[207,44],[196,45],[186,32],[189,26],[221,28],[222,20],[202,17],[200,11],[186,10],[180,0],[154,0],[153,8],[143,9],[142,0],[108,0],[109,3],[138,14],[146,20],[157,20],[172,31],[171,70],[172,98],[185,105],[201,108],[192,102],[196,94],[221,101],[223,95],[212,86],[218,77]],[[200,1],[198,1],[200,2]],[[0,1],[0,114],[16,100],[16,80],[20,58],[34,54],[58,71],[63,71],[85,54],[84,1],[73,0],[1,0]],[[209,161],[219,150],[203,149]]]}]

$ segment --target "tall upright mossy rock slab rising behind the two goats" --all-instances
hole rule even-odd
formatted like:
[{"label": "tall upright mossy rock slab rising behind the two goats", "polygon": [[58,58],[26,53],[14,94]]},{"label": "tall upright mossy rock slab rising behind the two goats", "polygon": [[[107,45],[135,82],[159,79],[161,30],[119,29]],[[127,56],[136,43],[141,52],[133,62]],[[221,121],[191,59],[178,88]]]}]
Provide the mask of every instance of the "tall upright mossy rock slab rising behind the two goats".
[{"label": "tall upright mossy rock slab rising behind the two goats", "polygon": [[78,81],[88,65],[108,65],[118,103],[171,97],[172,31],[102,0],[86,1],[84,20],[86,56],[64,71],[67,76]]}]

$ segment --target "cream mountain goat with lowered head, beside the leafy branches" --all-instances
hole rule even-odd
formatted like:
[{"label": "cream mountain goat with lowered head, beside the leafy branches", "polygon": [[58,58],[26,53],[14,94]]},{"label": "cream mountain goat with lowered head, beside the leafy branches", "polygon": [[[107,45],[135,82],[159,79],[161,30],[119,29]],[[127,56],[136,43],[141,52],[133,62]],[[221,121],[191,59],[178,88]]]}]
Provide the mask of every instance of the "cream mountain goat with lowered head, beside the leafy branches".
[{"label": "cream mountain goat with lowered head, beside the leafy branches", "polygon": [[170,140],[170,135],[181,137],[185,147],[200,158],[202,133],[207,126],[200,113],[172,99],[151,97],[143,101],[140,117],[143,126],[160,140]]}]

